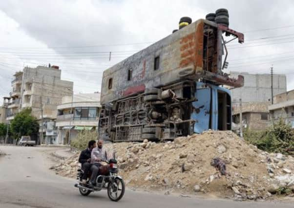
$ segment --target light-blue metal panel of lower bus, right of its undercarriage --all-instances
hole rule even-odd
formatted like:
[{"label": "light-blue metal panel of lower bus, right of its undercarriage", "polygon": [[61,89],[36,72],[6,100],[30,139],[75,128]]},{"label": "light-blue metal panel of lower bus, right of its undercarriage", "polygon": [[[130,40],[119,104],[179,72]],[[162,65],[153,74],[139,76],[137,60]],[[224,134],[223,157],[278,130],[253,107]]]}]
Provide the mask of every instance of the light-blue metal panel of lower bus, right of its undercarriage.
[{"label": "light-blue metal panel of lower bus, right of its undercarriage", "polygon": [[203,82],[196,82],[195,97],[197,101],[192,102],[194,110],[191,119],[197,120],[194,124],[194,132],[201,133],[208,130],[210,124],[210,86]]}]

